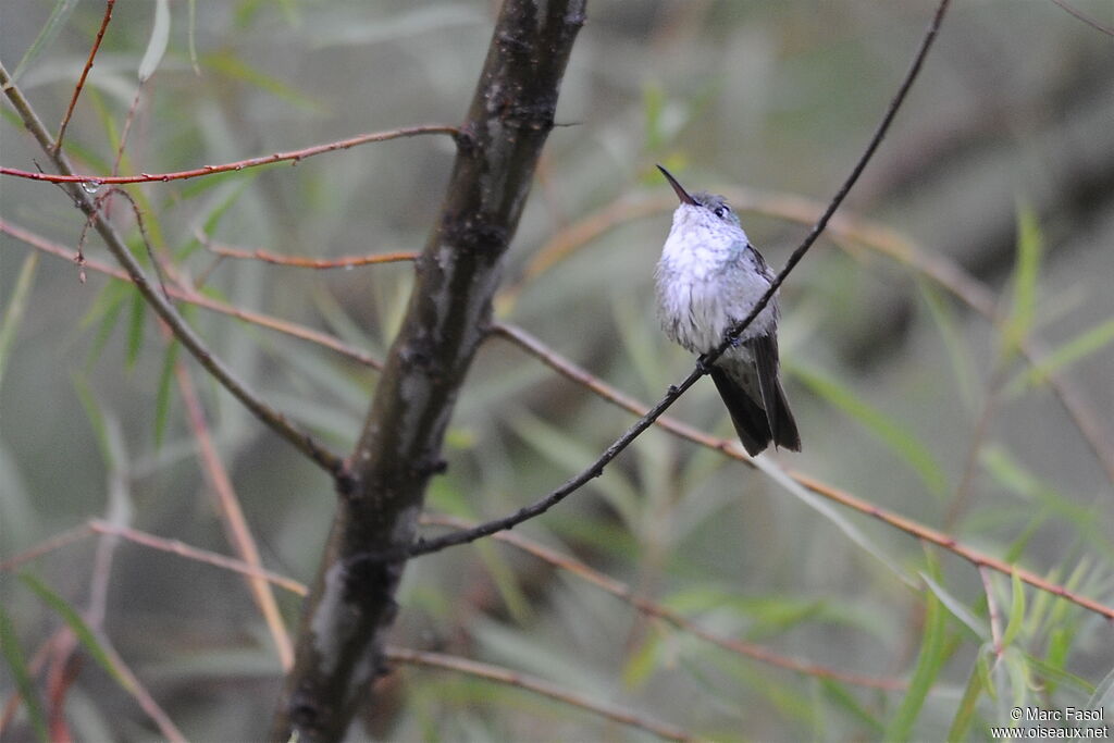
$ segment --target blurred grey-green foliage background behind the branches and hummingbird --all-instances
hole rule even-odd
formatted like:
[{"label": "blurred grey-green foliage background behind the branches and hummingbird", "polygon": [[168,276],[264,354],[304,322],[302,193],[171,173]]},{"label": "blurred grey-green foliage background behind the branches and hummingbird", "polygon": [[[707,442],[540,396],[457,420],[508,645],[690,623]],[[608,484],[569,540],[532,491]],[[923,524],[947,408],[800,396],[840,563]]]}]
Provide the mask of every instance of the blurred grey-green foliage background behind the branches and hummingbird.
[{"label": "blurred grey-green foliage background behind the branches and hummingbird", "polygon": [[[1074,4],[1114,23],[1108,0]],[[111,167],[156,6],[117,3],[67,135],[81,172]],[[55,7],[46,0],[0,7],[0,59],[9,70]],[[742,197],[752,242],[780,267],[808,231],[783,212],[793,207],[808,222],[839,187],[934,7],[926,0],[589,2],[559,126],[507,260],[498,317],[628,394],[658,399],[693,363],[654,316],[652,275],[668,211],[617,221],[541,271],[539,255],[553,255],[550,241],[597,213],[638,211],[667,197],[653,168],[664,163],[693,189]],[[19,84],[51,130],[102,10],[76,3],[52,43],[21,70]],[[455,124],[475,89],[495,12],[488,2],[345,0],[175,2],[169,10],[168,47],[139,98],[124,172],[186,169],[363,131]],[[49,169],[7,101],[3,116],[0,162]],[[973,312],[916,261],[878,247],[912,248],[931,265],[944,261],[967,272],[967,281],[985,285],[1010,332],[1061,350],[1053,356],[1057,373],[1101,430],[1110,461],[1112,123],[1110,36],[1051,1],[957,2],[844,207],[853,222],[841,223],[838,242],[822,238],[782,292],[781,349],[804,451],[772,454],[1057,583],[1074,576],[1075,589],[1107,605],[1114,473],[1044,378],[1025,377],[1003,324]],[[420,250],[438,218],[452,156],[446,138],[404,139],[129,193],[149,208],[156,251],[184,256],[184,275],[209,272],[207,286],[237,306],[321,329],[382,358],[405,306],[409,264],[335,272],[215,264],[196,231],[320,258]],[[4,221],[77,245],[84,221],[56,186],[4,177],[0,199]],[[115,208],[121,229],[140,245],[123,199]],[[852,227],[881,237],[867,244],[849,236]],[[98,239],[90,237],[86,250],[110,262]],[[9,305],[30,253],[0,234],[0,306]],[[1018,255],[1036,266],[1032,296],[1025,272],[1016,270]],[[150,313],[129,289],[94,272],[82,284],[75,265],[51,256],[41,257],[31,282],[0,380],[0,558],[102,517],[110,502],[137,529],[229,554],[173,385],[158,434],[167,352]],[[267,400],[334,449],[351,448],[374,391],[371,370],[204,310],[188,316]],[[196,364],[188,368],[264,565],[310,581],[332,516],[329,481]],[[82,405],[81,390],[95,412]],[[731,434],[711,384],[698,384],[671,414]],[[476,519],[504,515],[578,471],[632,421],[494,339],[462,390],[446,447],[449,469],[434,479],[429,505]],[[962,506],[952,510],[960,491]],[[756,470],[651,430],[603,478],[521,531],[719,634],[848,673],[907,680],[925,667],[918,648],[926,604],[937,594],[910,589],[897,574],[938,569],[945,603],[966,607],[987,627],[973,566],[833,508],[836,519]],[[863,549],[840,520],[888,557]],[[85,608],[95,549],[88,538],[25,568]],[[1018,610],[1009,579],[991,583],[1006,623]],[[61,626],[59,615],[13,573],[0,575],[0,589],[14,637],[31,657]],[[282,592],[278,598],[293,632],[300,602]],[[106,604],[107,636],[187,736],[262,734],[281,669],[240,576],[124,542]],[[401,646],[536,674],[702,736],[877,740],[898,730],[902,703],[911,704],[901,691],[862,690],[733,656],[508,547],[457,548],[411,564],[400,604],[394,642]],[[929,674],[924,706],[907,715],[918,740],[947,734],[977,676],[976,658],[986,657],[985,638],[950,608],[940,667]],[[977,722],[964,737],[983,740],[986,724],[1007,724],[1001,704],[1079,706],[1114,665],[1111,627],[1101,617],[1032,589],[1022,610],[1017,652],[993,672],[997,700],[979,696]],[[10,678],[0,678],[4,697]],[[66,698],[80,740],[157,736],[95,662],[84,664]],[[643,736],[521,690],[423,668],[392,675],[372,717],[371,732],[355,730],[353,737]],[[11,725],[28,730],[22,718]]]}]

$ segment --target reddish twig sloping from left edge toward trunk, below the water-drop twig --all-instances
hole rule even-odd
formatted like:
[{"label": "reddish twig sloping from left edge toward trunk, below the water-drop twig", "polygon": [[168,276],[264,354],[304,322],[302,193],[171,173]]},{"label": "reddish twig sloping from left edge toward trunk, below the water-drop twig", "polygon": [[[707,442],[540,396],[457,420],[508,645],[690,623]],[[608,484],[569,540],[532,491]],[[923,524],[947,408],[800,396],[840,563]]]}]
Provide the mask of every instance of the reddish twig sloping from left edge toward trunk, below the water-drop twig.
[{"label": "reddish twig sloping from left edge toward trunk, below the water-drop twig", "polygon": [[[23,229],[10,222],[4,222],[0,219],[0,233],[11,235],[16,239],[30,245],[31,247],[42,251],[43,253],[49,253],[50,255],[56,255],[61,258],[71,260],[72,251],[58,243],[52,243],[47,238],[37,235],[32,232]],[[111,276],[119,281],[126,281],[128,283],[135,283],[131,281],[126,272],[115,268],[113,266],[106,265],[98,261],[86,260],[84,266],[90,271],[105,274],[106,276]],[[321,331],[314,330],[312,327],[306,327],[305,325],[299,325],[296,323],[287,322],[285,320],[280,320],[278,317],[273,317],[271,315],[265,315],[257,312],[252,312],[250,310],[242,310],[237,306],[226,304],[218,300],[214,300],[205,294],[194,291],[188,286],[167,286],[167,292],[172,297],[180,302],[186,302],[187,304],[194,304],[205,310],[211,310],[213,312],[218,312],[221,314],[242,320],[246,323],[253,325],[258,325],[261,327],[266,327],[267,330],[277,331],[285,335],[292,338],[301,339],[303,341],[309,341],[310,343],[316,343],[323,348],[331,351],[335,351],[341,355],[344,355],[353,361],[356,361],[365,366],[371,366],[372,369],[382,369],[383,364],[374,356],[369,355],[364,351],[351,346],[340,339],[322,333]]]}]

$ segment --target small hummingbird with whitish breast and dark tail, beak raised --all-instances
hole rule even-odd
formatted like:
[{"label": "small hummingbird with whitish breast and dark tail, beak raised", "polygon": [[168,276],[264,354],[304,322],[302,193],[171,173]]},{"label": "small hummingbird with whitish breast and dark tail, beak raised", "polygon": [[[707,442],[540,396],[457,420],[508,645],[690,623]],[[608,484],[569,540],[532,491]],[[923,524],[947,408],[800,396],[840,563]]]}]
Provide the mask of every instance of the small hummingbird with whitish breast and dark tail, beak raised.
[{"label": "small hummingbird with whitish breast and dark tail, beak raised", "polygon": [[[723,196],[690,194],[668,170],[657,169],[681,199],[654,272],[658,319],[670,340],[704,354],[746,319],[774,274]],[[801,450],[779,377],[776,294],[709,373],[746,453],[753,457],[771,441]]]}]

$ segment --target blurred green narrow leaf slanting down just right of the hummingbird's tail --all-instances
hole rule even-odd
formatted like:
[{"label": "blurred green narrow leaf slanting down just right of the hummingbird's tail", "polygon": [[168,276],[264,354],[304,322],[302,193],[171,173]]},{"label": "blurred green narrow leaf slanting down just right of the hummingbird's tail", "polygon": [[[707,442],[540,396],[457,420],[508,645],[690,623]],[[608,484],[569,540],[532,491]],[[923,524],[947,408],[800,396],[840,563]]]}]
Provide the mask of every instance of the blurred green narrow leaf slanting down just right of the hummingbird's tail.
[{"label": "blurred green narrow leaf slanting down just right of the hummingbird's tail", "polygon": [[948,478],[940,463],[928,447],[907,428],[891,420],[831,377],[805,369],[799,363],[784,365],[817,395],[842,410],[872,433],[882,446],[912,467],[929,492],[940,498],[949,492]]}]

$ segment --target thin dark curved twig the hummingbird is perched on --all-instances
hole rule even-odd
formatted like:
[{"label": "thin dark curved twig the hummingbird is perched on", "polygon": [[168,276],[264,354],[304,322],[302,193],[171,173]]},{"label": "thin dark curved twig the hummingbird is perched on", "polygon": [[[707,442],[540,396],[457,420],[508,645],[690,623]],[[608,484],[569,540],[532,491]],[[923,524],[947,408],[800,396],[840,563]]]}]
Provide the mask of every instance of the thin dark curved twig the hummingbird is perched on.
[{"label": "thin dark curved twig the hummingbird is perched on", "polygon": [[[836,196],[832,197],[832,201],[829,203],[828,208],[824,209],[824,213],[821,215],[820,219],[818,219],[815,225],[813,225],[812,229],[805,236],[804,242],[802,242],[801,245],[795,251],[793,251],[792,255],[790,255],[789,261],[785,263],[785,267],[782,268],[781,272],[770,283],[770,289],[766,291],[766,293],[762,296],[762,299],[758,301],[758,303],[755,303],[750,314],[745,319],[743,319],[742,322],[737,323],[734,327],[732,327],[731,331],[727,332],[726,336],[724,338],[723,342],[720,343],[719,348],[701,356],[700,361],[696,364],[696,368],[692,371],[692,373],[688,374],[687,378],[685,378],[680,384],[671,387],[668,393],[664,398],[662,398],[657,402],[657,404],[655,404],[645,416],[643,416],[631,428],[628,428],[623,436],[616,439],[615,442],[612,443],[612,446],[609,446],[598,458],[596,458],[596,461],[594,461],[578,475],[565,481],[560,487],[550,491],[548,495],[535,501],[534,504],[519,509],[515,514],[505,516],[499,519],[495,519],[492,521],[488,521],[487,524],[481,524],[475,529],[444,535],[443,537],[439,537],[437,539],[429,539],[429,540],[418,539],[414,542],[414,545],[407,551],[407,556],[413,557],[417,555],[428,555],[431,553],[446,549],[447,547],[452,547],[456,545],[462,545],[469,541],[475,541],[476,539],[490,536],[497,531],[510,529],[519,524],[522,524],[524,521],[527,521],[531,518],[536,518],[545,514],[550,508],[553,508],[561,500],[564,500],[567,496],[569,496],[573,492],[576,492],[578,489],[584,487],[594,478],[597,478],[600,475],[603,475],[604,468],[613,459],[618,457],[619,453],[624,449],[626,449],[632,441],[634,441],[636,438],[638,438],[638,436],[642,434],[643,431],[649,428],[662,413],[664,413],[678,398],[681,398],[682,394],[684,394],[686,390],[688,390],[688,388],[695,384],[701,377],[707,373],[711,364],[716,359],[719,359],[720,355],[726,350],[726,348],[734,342],[734,339],[739,338],[739,335],[746,329],[746,326],[754,321],[754,317],[756,317],[758,314],[762,311],[762,309],[766,305],[770,299],[778,291],[778,287],[781,286],[782,282],[785,281],[785,277],[790,274],[790,272],[792,272],[792,270],[797,266],[797,264],[800,263],[801,258],[804,257],[804,254],[808,253],[809,248],[812,247],[813,243],[815,243],[817,238],[824,231],[824,227],[828,226],[828,222],[836,213],[836,209],[839,208],[839,206],[843,203],[843,199],[851,190],[851,187],[854,185],[856,180],[859,179],[859,176],[862,174],[862,170],[867,167],[867,163],[870,162],[874,151],[878,149],[878,146],[881,144],[882,138],[886,136],[887,130],[889,130],[890,124],[893,121],[893,117],[897,115],[898,110],[901,107],[901,104],[905,101],[906,95],[909,92],[910,87],[917,79],[917,75],[920,72],[921,65],[924,63],[925,58],[928,55],[928,50],[931,48],[932,41],[936,39],[937,31],[939,31],[940,22],[944,20],[944,16],[947,12],[949,3],[950,0],[940,0],[940,3],[936,9],[936,13],[932,16],[932,20],[929,23],[929,27],[925,33],[925,38],[921,40],[920,48],[918,49],[917,55],[913,58],[912,65],[909,67],[909,71],[906,74],[906,77],[902,80],[901,86],[898,88],[897,94],[895,95],[893,99],[890,101],[890,105],[886,110],[886,115],[882,117],[882,120],[879,124],[878,128],[876,129],[873,136],[871,137],[870,143],[867,145],[866,150],[859,157],[847,180],[844,180],[843,185],[836,193]],[[394,550],[388,550],[388,551],[393,553]],[[390,555],[390,557],[398,559],[398,557],[394,555]],[[369,555],[367,557],[367,559],[372,559],[372,560],[381,560],[385,558],[388,558],[387,553],[375,556]]]}]

